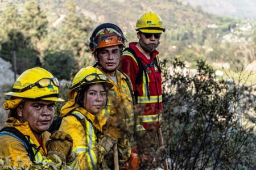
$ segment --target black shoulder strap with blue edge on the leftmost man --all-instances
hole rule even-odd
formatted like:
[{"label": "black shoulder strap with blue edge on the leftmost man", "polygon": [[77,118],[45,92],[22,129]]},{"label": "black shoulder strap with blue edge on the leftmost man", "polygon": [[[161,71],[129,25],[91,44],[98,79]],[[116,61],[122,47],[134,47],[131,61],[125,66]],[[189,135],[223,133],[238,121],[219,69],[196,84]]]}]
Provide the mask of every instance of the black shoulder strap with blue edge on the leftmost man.
[{"label": "black shoulder strap with blue edge on the leftmost man", "polygon": [[[7,133],[6,133],[7,132]],[[18,129],[16,128],[13,128],[13,127],[5,127],[5,128],[2,128],[0,130],[0,135],[9,135],[11,137],[14,137],[16,139],[18,139],[20,142],[23,143],[23,145],[25,146],[26,148],[26,151],[27,151],[27,154],[28,156],[30,157],[30,160],[32,162],[35,161],[35,154],[32,150],[32,147],[34,145],[32,145],[30,142],[29,142],[29,139],[30,137],[29,136],[26,136],[24,135],[23,133],[21,133]],[[27,138],[26,138],[27,137]]]}]

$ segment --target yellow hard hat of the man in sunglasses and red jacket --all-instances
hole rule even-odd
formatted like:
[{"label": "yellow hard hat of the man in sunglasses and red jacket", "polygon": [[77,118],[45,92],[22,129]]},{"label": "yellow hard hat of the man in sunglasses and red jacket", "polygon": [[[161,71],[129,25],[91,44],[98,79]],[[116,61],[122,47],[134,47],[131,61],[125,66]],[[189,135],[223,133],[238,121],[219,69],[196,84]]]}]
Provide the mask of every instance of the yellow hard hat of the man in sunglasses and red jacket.
[{"label": "yellow hard hat of the man in sunglasses and red jacket", "polygon": [[163,28],[162,19],[156,12],[148,11],[139,16],[136,23],[136,31],[144,33],[161,33],[166,31]]}]

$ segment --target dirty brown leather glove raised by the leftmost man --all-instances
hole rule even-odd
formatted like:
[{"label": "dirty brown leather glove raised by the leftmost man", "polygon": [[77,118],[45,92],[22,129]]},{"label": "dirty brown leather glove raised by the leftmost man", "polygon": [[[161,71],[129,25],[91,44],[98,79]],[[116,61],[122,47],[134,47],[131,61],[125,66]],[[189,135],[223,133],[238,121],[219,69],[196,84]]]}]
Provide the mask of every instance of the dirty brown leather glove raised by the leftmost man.
[{"label": "dirty brown leather glove raised by the leftmost man", "polygon": [[[64,131],[54,131],[50,136],[51,140],[46,142],[47,151],[57,151],[63,154],[66,158],[66,162],[70,163],[75,159],[75,154],[72,152],[73,140],[71,135]],[[56,152],[55,152],[56,154]]]}]

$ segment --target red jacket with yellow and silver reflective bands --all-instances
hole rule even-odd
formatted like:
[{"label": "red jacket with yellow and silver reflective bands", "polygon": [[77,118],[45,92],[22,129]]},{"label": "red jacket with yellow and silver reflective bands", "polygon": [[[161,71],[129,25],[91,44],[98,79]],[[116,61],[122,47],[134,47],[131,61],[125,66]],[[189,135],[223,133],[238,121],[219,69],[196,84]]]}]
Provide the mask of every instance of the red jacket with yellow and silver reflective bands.
[{"label": "red jacket with yellow and silver reflective bands", "polygon": [[[136,44],[137,42],[131,42],[129,47],[134,50],[138,58],[141,58],[142,65],[145,66],[152,63],[154,58],[157,57],[158,51],[154,50],[151,52],[151,59],[147,59],[135,46]],[[137,60],[132,53],[127,51],[123,53],[120,69],[130,77],[131,83],[133,84],[133,91],[135,91],[135,89],[138,90],[137,108],[138,111],[141,108],[143,109],[143,112],[140,113],[139,121],[146,130],[159,128],[162,118],[162,77],[158,68],[160,68],[160,66],[157,67],[155,64],[154,66],[151,65],[148,67],[146,69],[147,75],[145,76],[143,73],[142,82],[135,84],[135,79],[139,71]],[[148,79],[148,91],[150,95],[148,95],[147,91],[146,78]],[[150,96],[150,99],[148,99],[148,96]]]}]

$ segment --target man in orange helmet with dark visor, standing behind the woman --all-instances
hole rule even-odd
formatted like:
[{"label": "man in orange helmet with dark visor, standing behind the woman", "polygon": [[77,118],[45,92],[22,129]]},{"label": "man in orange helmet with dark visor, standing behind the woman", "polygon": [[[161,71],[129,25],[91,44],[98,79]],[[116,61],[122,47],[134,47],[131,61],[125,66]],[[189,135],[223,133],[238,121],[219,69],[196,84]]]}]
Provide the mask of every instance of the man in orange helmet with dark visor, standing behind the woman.
[{"label": "man in orange helmet with dark visor, standing behind the woman", "polygon": [[[118,114],[125,121],[126,136],[118,141],[119,165],[125,166],[134,145],[134,111],[131,82],[126,74],[117,70],[125,47],[125,36],[122,30],[113,23],[102,23],[94,28],[90,37],[89,49],[94,55],[97,67],[104,73],[114,87],[109,91],[110,117]],[[110,155],[112,156],[112,155]],[[108,156],[108,167],[112,167],[113,159]]]}]

